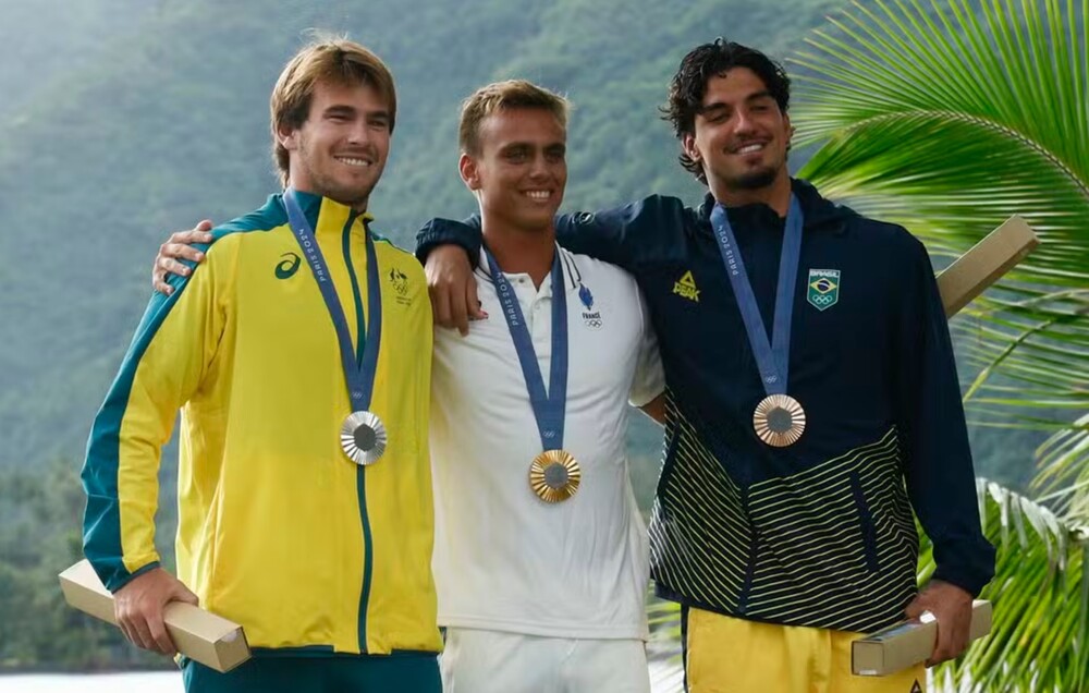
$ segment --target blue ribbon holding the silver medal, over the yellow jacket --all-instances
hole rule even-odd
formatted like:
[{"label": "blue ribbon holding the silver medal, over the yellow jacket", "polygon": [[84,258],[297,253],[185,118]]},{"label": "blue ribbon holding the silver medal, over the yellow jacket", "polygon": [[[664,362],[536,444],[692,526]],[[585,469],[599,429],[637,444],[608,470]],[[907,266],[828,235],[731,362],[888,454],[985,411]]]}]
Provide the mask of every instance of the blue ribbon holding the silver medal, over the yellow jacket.
[{"label": "blue ribbon holding the silver medal, over the yellow jacket", "polygon": [[[287,220],[291,230],[303,248],[306,263],[310,266],[314,279],[318,282],[321,297],[326,301],[329,317],[332,318],[340,342],[341,363],[344,366],[344,379],[347,380],[347,393],[352,400],[352,411],[365,411],[370,406],[370,397],[375,390],[375,372],[378,369],[378,348],[382,341],[382,288],[378,279],[378,259],[375,253],[375,241],[370,230],[366,228],[367,241],[367,325],[359,325],[359,335],[364,337],[363,357],[356,356],[352,346],[352,335],[347,329],[344,308],[341,307],[333,278],[329,275],[326,258],[314,238],[314,229],[296,198],[295,190],[289,187],[283,193],[283,204],[287,209]],[[352,212],[355,214],[354,211]]]}]

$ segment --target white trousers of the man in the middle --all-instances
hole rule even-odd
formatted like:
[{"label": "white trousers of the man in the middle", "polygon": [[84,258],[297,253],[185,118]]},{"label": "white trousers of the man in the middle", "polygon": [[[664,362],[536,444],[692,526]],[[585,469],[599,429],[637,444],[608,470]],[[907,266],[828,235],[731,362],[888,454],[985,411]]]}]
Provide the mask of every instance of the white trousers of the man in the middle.
[{"label": "white trousers of the man in the middle", "polygon": [[446,629],[444,693],[650,693],[641,640]]}]

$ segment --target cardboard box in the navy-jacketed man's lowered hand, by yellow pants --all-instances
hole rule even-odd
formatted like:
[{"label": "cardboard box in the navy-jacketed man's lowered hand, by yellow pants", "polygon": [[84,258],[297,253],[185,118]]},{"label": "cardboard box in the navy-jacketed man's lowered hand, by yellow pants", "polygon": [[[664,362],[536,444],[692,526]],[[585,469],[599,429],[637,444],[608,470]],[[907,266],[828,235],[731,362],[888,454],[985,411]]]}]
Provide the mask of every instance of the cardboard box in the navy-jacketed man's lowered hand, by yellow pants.
[{"label": "cardboard box in the navy-jacketed man's lowered hand, by yellow pants", "polygon": [[[929,618],[928,618],[929,617]],[[971,603],[970,640],[991,632],[991,603]],[[926,661],[934,652],[938,621],[929,613],[866,635],[851,643],[851,670],[855,676],[883,677]]]}]

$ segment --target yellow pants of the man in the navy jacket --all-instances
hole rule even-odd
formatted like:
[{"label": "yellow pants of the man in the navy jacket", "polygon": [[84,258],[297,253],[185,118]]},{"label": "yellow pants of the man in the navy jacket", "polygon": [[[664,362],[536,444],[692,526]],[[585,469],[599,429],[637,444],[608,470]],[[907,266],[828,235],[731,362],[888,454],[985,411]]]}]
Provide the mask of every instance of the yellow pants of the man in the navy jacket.
[{"label": "yellow pants of the man in the navy jacket", "polygon": [[923,665],[886,676],[851,673],[858,633],[774,625],[688,609],[688,693],[925,693]]}]

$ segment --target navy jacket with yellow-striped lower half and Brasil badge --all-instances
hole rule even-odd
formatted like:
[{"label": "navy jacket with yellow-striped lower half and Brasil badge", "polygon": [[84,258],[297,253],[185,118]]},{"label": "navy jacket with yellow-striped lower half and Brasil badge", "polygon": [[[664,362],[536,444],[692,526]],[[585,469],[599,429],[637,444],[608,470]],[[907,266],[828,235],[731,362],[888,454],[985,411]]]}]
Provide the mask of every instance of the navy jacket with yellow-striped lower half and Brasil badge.
[{"label": "navy jacket with yellow-striped lower half and Brasil badge", "polygon": [[[556,218],[560,243],[631,271],[646,294],[668,385],[665,461],[650,526],[658,593],[775,623],[870,631],[916,593],[918,535],[935,579],[971,594],[991,579],[953,350],[933,268],[903,228],[793,182],[805,226],[788,393],[802,439],[762,443],[766,396],[722,256],[708,195]],[[763,205],[731,223],[766,328],[784,222]],[[478,223],[478,222],[477,222]],[[478,226],[435,220],[417,256],[456,242],[476,258]],[[837,270],[835,289],[812,270]]]}]

